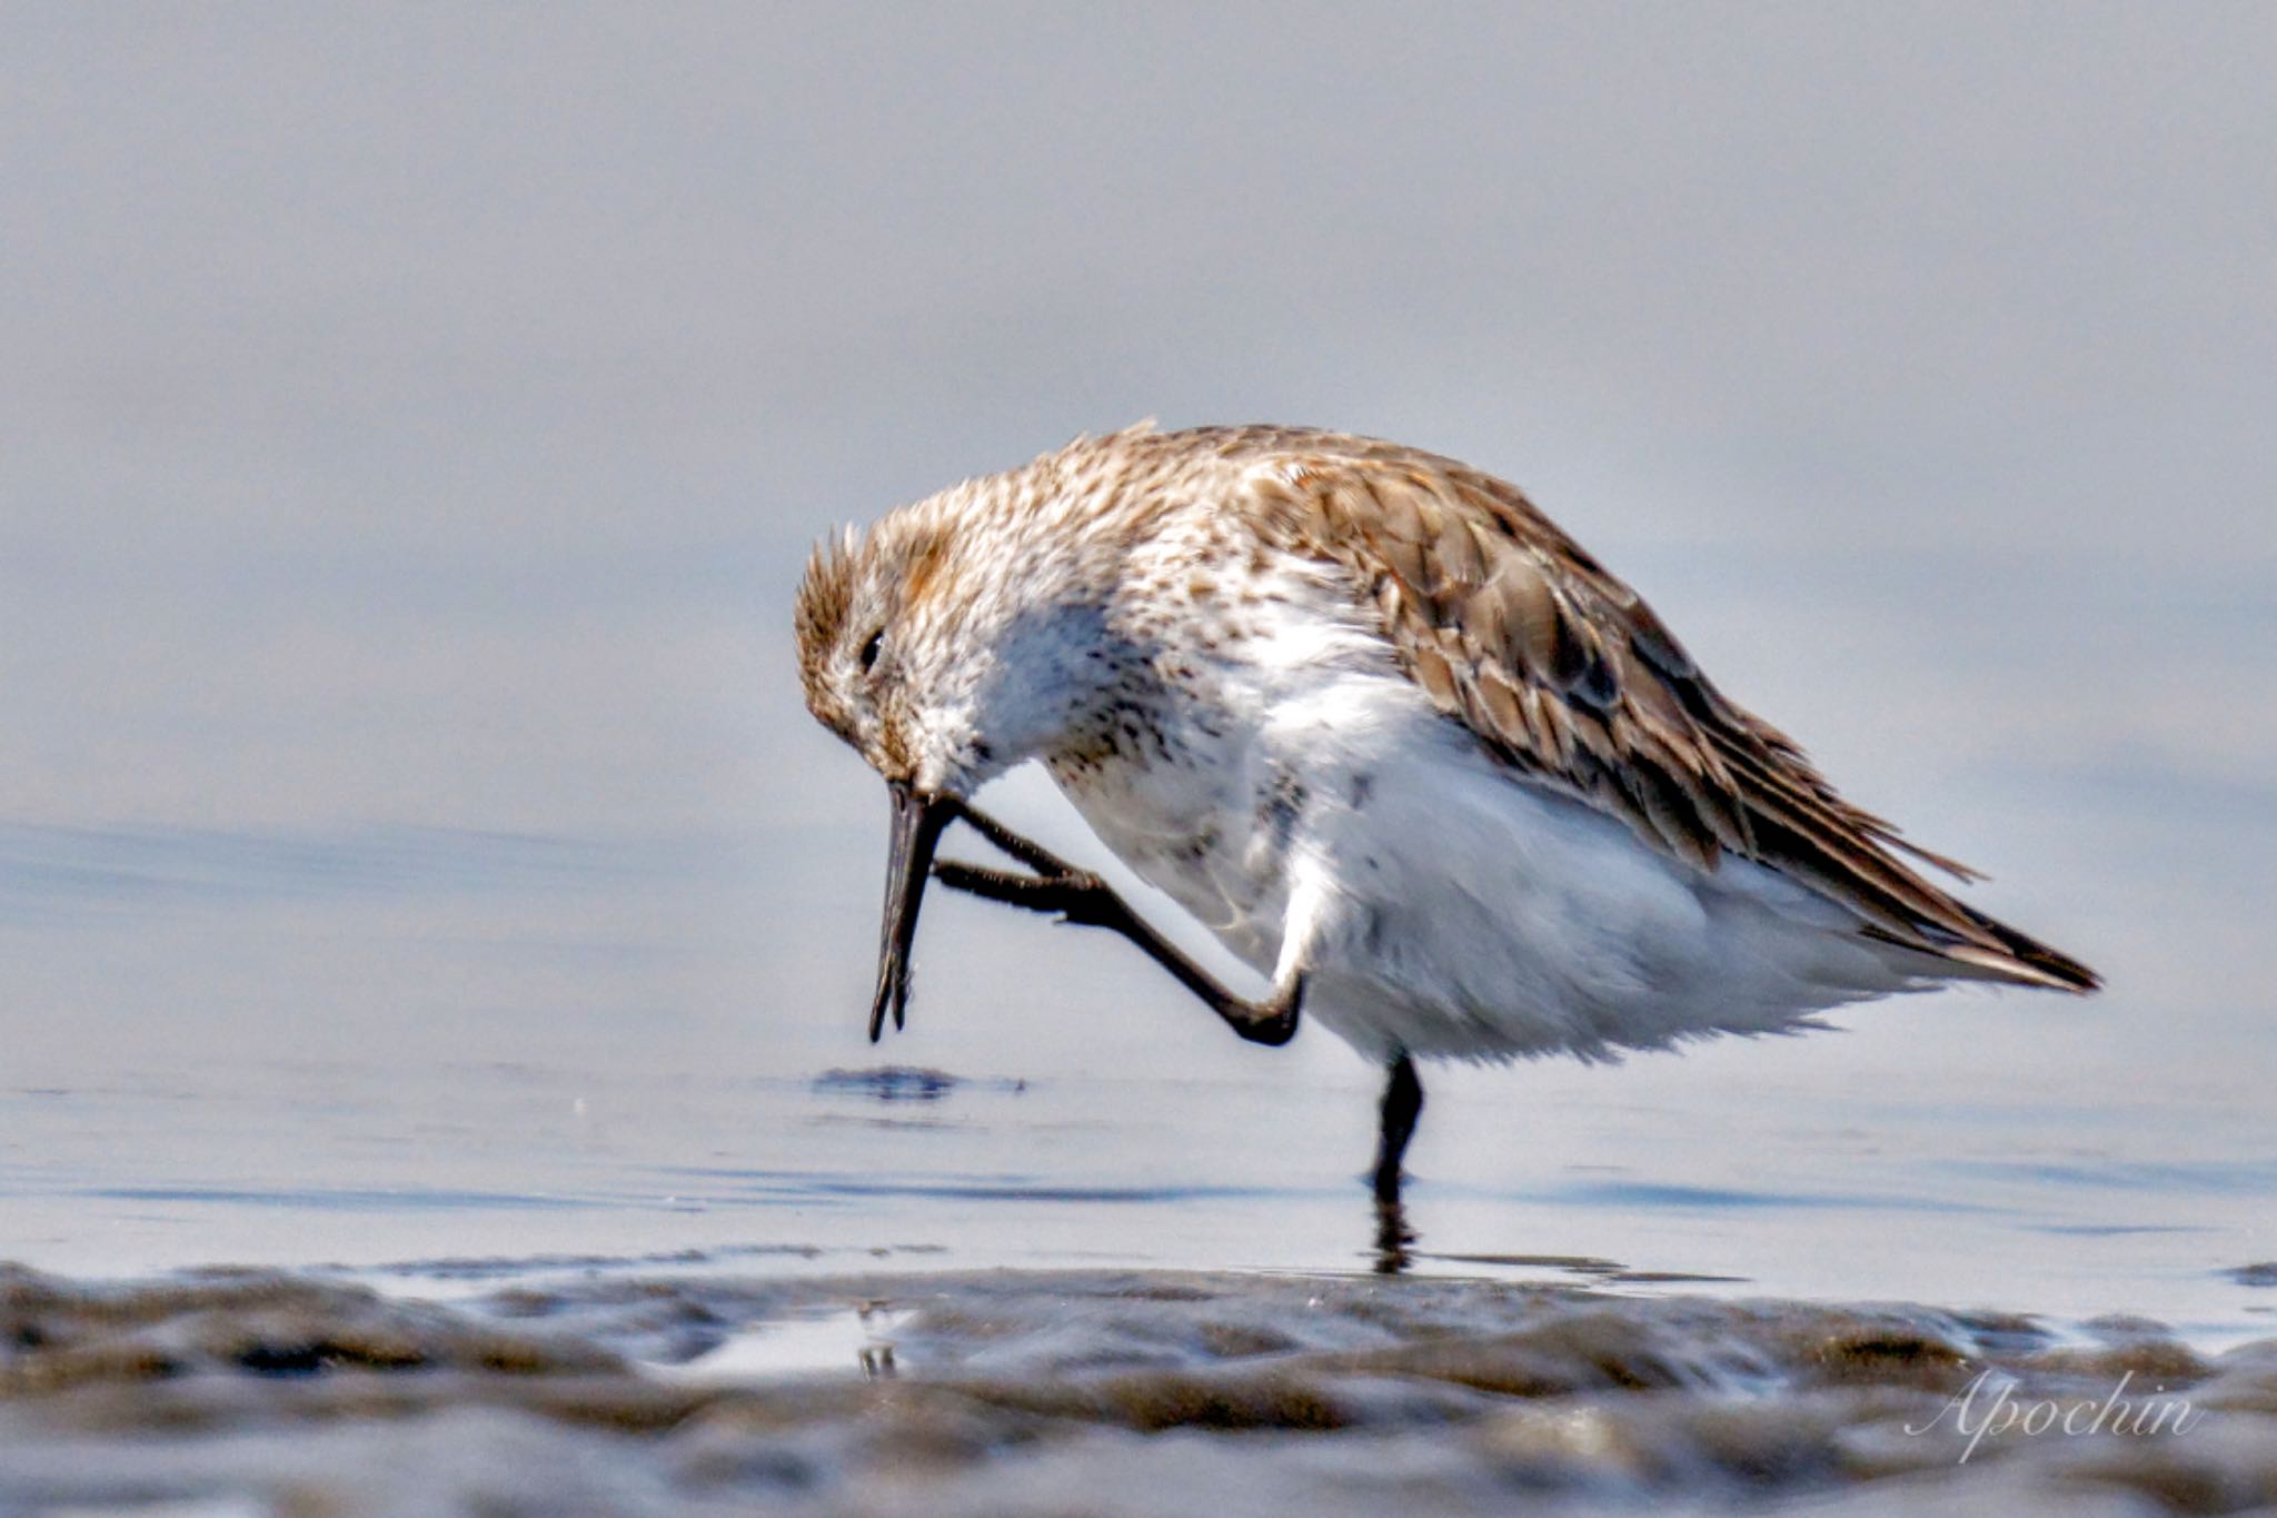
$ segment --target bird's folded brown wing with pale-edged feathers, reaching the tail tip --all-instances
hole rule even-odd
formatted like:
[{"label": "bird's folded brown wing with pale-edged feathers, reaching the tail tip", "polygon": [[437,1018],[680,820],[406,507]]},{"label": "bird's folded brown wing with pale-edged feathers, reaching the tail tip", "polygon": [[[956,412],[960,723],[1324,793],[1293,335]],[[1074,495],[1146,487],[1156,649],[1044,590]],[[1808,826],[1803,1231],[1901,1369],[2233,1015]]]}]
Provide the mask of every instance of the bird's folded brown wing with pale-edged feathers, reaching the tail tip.
[{"label": "bird's folded brown wing with pale-edged feathers, reaching the tail tip", "polygon": [[1334,432],[1177,442],[1257,464],[1243,478],[1261,530],[1343,564],[1430,699],[1530,781],[1705,869],[1726,851],[1781,869],[1885,942],[2038,985],[2097,983],[1910,869],[1899,851],[1976,878],[1835,794],[1794,740],[1726,699],[1653,610],[1516,487]]}]

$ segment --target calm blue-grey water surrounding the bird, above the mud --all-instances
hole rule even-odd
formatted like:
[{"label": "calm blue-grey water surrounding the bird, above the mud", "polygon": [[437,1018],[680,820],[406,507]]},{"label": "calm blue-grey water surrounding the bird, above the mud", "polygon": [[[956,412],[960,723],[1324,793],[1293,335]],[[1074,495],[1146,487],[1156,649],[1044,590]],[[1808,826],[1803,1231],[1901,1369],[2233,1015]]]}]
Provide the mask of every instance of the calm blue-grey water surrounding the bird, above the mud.
[{"label": "calm blue-grey water surrounding the bird, above the mud", "polygon": [[2268,1331],[2268,9],[7,27],[0,1256],[1366,1268],[1318,1031],[943,899],[861,1038],[804,546],[1159,414],[1519,480],[2111,981],[1441,1074],[1419,1268]]}]

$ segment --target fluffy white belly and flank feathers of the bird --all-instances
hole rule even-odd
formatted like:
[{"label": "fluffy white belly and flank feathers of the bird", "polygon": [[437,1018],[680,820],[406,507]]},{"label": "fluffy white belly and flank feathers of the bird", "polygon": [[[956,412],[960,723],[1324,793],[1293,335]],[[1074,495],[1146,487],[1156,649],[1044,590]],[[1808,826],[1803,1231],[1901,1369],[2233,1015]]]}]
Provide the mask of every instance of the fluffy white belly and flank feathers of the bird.
[{"label": "fluffy white belly and flank feathers of the bird", "polygon": [[1396,669],[1287,671],[1061,790],[1143,881],[1371,1056],[1608,1058],[1915,985],[1840,906],[1516,781]]}]

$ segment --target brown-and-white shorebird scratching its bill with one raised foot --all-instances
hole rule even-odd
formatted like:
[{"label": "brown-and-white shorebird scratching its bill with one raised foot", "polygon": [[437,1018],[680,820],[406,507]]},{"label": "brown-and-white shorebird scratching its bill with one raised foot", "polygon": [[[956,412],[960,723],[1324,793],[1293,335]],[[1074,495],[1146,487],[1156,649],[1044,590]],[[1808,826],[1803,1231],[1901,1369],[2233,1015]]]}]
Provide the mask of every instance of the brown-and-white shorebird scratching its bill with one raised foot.
[{"label": "brown-and-white shorebird scratching its bill with one raised foot", "polygon": [[[929,876],[1134,940],[1236,1033],[1384,1063],[1610,1058],[1945,981],[2095,990],[1965,906],[1514,487],[1296,428],[1132,428],[815,551],[813,715],[893,794],[874,1040]],[[1041,760],[1138,878],[1271,976],[1243,999],[970,806]],[[936,863],[965,819],[1027,872]],[[1031,872],[1031,874],[1029,874]]]}]

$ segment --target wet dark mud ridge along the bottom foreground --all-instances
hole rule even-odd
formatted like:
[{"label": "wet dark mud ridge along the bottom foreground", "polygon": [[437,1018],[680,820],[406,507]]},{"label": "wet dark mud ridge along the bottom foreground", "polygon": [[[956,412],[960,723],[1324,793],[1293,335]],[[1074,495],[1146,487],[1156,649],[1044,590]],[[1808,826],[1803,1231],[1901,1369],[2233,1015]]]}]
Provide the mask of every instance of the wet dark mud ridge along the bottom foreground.
[{"label": "wet dark mud ridge along the bottom foreground", "polygon": [[0,1513],[2227,1513],[2277,1340],[1177,1272],[0,1272]]}]

